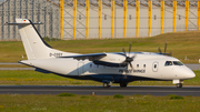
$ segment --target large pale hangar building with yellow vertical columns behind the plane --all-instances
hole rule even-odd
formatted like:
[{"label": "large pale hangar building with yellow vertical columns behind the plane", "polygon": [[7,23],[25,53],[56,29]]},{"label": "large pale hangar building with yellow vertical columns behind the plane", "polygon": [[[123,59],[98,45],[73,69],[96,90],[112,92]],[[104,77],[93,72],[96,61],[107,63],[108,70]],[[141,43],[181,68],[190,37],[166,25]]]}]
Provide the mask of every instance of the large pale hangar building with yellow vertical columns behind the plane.
[{"label": "large pale hangar building with yellow vertical columns behind the plane", "polygon": [[0,0],[0,40],[20,40],[27,18],[42,37],[63,40],[142,38],[200,30],[199,0]]}]

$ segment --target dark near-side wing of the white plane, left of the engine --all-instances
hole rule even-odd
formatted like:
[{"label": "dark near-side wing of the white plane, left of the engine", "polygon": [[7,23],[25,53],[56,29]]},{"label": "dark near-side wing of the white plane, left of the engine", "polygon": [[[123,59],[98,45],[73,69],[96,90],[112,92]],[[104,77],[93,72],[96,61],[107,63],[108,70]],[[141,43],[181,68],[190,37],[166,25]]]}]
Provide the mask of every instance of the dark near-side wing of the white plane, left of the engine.
[{"label": "dark near-side wing of the white plane, left of the engine", "polygon": [[59,57],[59,58],[73,58],[77,60],[86,60],[89,59],[90,61],[99,60],[103,57],[107,57],[106,53],[91,53],[91,54],[79,54],[79,55],[69,55],[69,57]]}]

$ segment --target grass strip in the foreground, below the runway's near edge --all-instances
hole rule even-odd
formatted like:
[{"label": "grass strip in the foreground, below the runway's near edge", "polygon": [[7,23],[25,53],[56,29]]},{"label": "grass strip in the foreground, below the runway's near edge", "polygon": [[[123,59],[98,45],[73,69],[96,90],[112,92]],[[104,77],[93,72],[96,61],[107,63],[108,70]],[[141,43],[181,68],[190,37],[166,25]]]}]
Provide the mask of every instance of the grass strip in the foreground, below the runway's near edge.
[{"label": "grass strip in the foreground, below the runway's near edge", "polygon": [[1,112],[199,112],[200,96],[0,94]]}]

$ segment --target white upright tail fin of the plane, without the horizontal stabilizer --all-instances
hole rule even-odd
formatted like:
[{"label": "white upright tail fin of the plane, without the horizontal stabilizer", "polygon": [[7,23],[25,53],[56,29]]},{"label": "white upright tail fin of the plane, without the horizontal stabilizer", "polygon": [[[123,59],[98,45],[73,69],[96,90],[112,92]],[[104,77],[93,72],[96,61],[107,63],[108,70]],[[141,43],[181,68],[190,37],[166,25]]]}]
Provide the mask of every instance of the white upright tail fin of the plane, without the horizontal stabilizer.
[{"label": "white upright tail fin of the plane, without the horizontal stabilizer", "polygon": [[21,40],[29,60],[44,59],[49,52],[49,45],[42,41],[34,26],[28,19],[16,19]]}]

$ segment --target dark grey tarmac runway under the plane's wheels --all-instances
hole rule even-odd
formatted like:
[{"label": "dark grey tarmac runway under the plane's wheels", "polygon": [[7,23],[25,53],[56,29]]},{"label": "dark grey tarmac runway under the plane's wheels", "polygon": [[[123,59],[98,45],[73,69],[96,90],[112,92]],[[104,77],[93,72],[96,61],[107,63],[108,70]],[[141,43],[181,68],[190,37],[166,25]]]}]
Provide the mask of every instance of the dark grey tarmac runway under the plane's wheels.
[{"label": "dark grey tarmac runway under the plane's wheels", "polygon": [[133,94],[151,94],[151,95],[192,95],[200,96],[200,86],[67,86],[67,85],[0,85],[0,94],[59,94],[74,93],[84,95],[133,95]]}]

